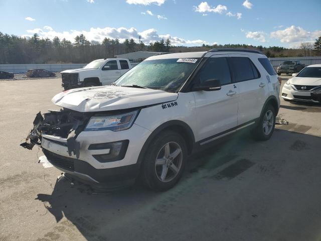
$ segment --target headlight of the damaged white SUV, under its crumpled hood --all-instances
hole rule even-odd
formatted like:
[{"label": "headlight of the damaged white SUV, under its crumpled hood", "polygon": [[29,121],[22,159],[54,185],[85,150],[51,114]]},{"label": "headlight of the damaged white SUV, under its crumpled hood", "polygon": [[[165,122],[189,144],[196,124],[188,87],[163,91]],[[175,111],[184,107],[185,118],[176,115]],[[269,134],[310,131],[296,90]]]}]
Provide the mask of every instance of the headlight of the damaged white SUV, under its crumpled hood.
[{"label": "headlight of the damaged white SUV, under its crumpled hood", "polygon": [[138,110],[118,115],[92,116],[86,126],[85,131],[123,131],[132,126],[137,114]]}]

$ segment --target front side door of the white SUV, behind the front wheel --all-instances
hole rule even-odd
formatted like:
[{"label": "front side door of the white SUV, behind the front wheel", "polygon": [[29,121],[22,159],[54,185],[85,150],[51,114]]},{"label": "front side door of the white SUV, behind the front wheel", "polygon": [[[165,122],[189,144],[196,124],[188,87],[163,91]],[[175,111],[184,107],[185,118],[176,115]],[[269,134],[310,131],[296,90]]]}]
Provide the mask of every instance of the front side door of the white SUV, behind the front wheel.
[{"label": "front side door of the white SUV, behind the front wheel", "polygon": [[219,79],[221,89],[194,91],[197,140],[205,144],[237,126],[238,88],[232,83],[227,55],[213,55],[194,78],[197,81]]}]

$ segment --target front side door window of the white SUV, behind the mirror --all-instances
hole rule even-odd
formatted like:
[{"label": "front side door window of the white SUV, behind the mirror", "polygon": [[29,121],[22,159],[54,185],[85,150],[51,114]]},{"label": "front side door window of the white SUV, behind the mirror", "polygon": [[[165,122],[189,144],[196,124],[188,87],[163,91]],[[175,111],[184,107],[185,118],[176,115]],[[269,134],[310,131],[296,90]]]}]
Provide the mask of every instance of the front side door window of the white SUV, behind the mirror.
[{"label": "front side door window of the white SUV, behind the mirror", "polygon": [[219,79],[221,85],[232,83],[230,69],[225,57],[209,58],[207,60],[205,66],[197,74],[196,81],[203,83],[208,79]]}]

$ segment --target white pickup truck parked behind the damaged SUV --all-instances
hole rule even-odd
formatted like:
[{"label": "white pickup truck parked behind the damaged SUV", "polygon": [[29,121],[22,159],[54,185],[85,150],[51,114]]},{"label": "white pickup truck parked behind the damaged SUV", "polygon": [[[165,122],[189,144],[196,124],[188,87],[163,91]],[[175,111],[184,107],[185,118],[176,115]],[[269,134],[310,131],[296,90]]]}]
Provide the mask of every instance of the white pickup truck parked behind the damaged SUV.
[{"label": "white pickup truck parked behind the damaged SUV", "polygon": [[109,85],[131,68],[132,66],[128,59],[97,59],[82,69],[62,71],[62,87],[68,90]]}]

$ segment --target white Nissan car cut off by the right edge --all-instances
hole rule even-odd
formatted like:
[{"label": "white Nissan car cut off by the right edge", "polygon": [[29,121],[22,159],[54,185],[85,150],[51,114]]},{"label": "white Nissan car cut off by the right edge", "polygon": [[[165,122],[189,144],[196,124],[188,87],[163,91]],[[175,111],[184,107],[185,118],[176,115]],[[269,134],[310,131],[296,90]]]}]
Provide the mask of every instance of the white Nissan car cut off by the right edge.
[{"label": "white Nissan car cut off by the right edge", "polygon": [[309,65],[292,76],[282,88],[285,101],[320,102],[317,98],[313,99],[311,93],[321,89],[321,64]]}]

